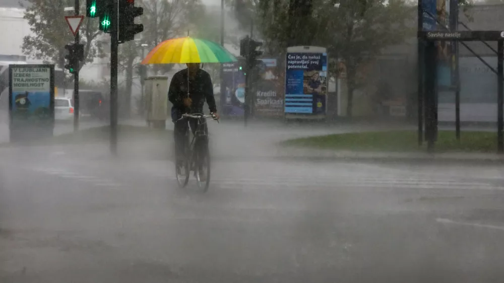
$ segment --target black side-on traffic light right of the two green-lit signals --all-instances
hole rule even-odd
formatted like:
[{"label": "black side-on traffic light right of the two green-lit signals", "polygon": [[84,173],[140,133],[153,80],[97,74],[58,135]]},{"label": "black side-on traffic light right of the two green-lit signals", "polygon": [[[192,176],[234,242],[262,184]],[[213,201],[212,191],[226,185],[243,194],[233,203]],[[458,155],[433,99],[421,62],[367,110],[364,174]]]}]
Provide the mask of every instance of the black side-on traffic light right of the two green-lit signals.
[{"label": "black side-on traffic light right of the two green-lit signals", "polygon": [[135,7],[135,0],[119,0],[119,43],[134,40],[135,34],[144,31],[144,25],[135,24],[135,18],[143,14],[142,7]]}]

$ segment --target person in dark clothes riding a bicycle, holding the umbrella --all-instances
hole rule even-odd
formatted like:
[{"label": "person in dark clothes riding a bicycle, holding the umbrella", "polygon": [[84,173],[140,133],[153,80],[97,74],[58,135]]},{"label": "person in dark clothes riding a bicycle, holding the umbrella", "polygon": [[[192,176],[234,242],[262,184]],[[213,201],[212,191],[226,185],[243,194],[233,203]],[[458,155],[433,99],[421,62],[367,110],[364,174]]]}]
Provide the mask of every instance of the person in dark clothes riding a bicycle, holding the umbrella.
[{"label": "person in dark clothes riding a bicycle, holding the umbrella", "polygon": [[[168,89],[168,100],[173,104],[171,108],[171,119],[175,123],[175,166],[181,166],[184,159],[184,147],[188,143],[187,139],[187,119],[191,125],[193,134],[196,131],[197,120],[184,118],[182,114],[203,114],[203,106],[207,101],[210,113],[219,119],[217,107],[215,105],[214,90],[210,74],[200,68],[199,63],[187,63],[187,68],[180,70],[173,75],[170,88]],[[204,118],[201,118],[204,119]],[[203,122],[203,121],[202,121]],[[205,133],[208,133],[206,123],[203,124]],[[203,150],[197,149],[197,150]],[[204,172],[200,172],[200,179],[205,179]]]}]

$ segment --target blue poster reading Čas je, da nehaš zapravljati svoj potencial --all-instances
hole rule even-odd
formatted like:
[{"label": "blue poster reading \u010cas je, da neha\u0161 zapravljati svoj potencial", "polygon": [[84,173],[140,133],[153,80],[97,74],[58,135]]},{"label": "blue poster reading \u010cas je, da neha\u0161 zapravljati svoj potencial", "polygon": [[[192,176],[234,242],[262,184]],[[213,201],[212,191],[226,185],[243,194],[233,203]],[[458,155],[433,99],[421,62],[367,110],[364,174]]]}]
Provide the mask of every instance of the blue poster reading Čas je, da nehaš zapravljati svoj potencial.
[{"label": "blue poster reading \u010cas je, da neha\u0161 zapravljati svoj potencial", "polygon": [[327,53],[287,53],[285,113],[325,114]]}]

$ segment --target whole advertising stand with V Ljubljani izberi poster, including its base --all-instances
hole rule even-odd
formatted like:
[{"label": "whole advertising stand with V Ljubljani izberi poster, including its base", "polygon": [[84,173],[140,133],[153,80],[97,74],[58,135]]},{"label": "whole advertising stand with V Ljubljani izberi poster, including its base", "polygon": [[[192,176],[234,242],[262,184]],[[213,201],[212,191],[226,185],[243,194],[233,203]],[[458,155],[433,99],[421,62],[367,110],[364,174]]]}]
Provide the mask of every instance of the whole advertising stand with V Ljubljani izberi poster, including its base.
[{"label": "whole advertising stand with V Ljubljani izberi poster, including its base", "polygon": [[52,136],[54,65],[9,65],[11,142]]}]

